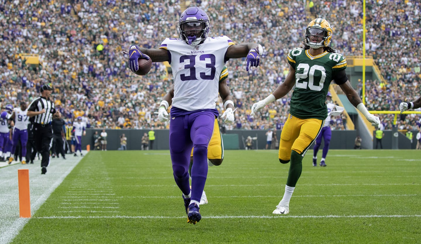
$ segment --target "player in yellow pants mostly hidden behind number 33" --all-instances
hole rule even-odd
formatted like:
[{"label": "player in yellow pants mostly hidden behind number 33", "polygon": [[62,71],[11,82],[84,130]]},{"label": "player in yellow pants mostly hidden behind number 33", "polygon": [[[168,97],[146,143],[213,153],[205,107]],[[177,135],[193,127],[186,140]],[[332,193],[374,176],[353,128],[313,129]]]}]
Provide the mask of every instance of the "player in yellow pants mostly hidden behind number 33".
[{"label": "player in yellow pants mostly hidden behind number 33", "polygon": [[[224,66],[221,71],[221,75],[219,76],[219,94],[221,95],[222,102],[224,104],[234,104],[232,101],[232,96],[229,91],[229,87],[226,84],[225,79],[228,77],[228,68]],[[167,109],[171,106],[172,98],[174,96],[174,87],[171,88],[170,92],[165,94],[164,100],[160,104],[158,118],[161,122],[168,121],[168,112]],[[232,112],[232,108],[227,108],[225,112],[222,114],[221,118],[225,118],[226,123],[233,123],[234,122],[234,113]],[[208,146],[208,166],[211,167],[213,165],[221,165],[222,161],[224,160],[224,145],[222,142],[221,131],[219,131],[219,124],[218,118],[215,118],[215,124],[213,129],[212,138],[210,139],[209,146]],[[190,166],[189,166],[189,175],[191,175],[193,166],[193,148],[192,153],[190,154]],[[202,197],[200,197],[200,205],[207,204],[208,198],[206,197],[205,191],[202,192]]]}]

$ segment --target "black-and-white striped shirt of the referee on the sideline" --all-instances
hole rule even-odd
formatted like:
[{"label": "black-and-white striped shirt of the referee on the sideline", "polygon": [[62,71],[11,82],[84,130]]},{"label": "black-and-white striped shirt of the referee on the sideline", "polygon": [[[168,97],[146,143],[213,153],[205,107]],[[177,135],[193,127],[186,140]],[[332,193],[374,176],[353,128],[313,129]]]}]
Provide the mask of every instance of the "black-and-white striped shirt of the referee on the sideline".
[{"label": "black-and-white striped shirt of the referee on the sideline", "polygon": [[32,118],[32,122],[36,124],[51,124],[53,120],[53,114],[56,113],[56,105],[50,99],[45,97],[38,97],[29,104],[28,111],[38,112],[45,109],[45,113],[35,115]]}]

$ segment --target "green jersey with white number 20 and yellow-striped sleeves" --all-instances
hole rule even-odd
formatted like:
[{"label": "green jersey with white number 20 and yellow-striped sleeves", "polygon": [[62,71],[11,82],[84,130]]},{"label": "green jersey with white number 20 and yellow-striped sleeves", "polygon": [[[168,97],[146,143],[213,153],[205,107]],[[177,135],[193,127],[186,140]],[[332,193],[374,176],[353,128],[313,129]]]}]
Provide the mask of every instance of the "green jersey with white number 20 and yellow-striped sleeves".
[{"label": "green jersey with white number 20 and yellow-striped sleeves", "polygon": [[329,85],[336,72],[346,68],[345,57],[326,51],[313,57],[309,50],[294,48],[288,53],[288,63],[295,69],[296,80],[290,114],[302,119],[324,120],[328,116],[325,101]]}]

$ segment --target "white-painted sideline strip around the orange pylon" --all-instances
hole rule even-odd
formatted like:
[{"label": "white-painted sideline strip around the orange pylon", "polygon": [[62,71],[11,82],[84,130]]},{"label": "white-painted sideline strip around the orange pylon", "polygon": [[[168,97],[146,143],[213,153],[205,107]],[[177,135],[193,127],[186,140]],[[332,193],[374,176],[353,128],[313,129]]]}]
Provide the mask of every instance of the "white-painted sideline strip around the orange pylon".
[{"label": "white-painted sideline strip around the orange pylon", "polygon": [[[86,156],[87,151],[82,150],[82,153]],[[0,168],[0,243],[11,242],[29,221],[29,218],[19,218],[18,169],[29,169],[31,216],[34,216],[83,157],[67,154],[66,158],[64,160],[61,157],[50,157],[50,165],[45,175],[41,174],[40,160],[34,160],[34,164],[23,165],[16,162]]]}]

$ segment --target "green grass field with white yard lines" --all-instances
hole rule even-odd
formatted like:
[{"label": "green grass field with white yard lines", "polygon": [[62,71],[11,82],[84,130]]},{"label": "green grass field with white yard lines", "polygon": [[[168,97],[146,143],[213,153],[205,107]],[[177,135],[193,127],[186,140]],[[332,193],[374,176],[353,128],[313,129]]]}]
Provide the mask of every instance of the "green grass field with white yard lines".
[{"label": "green grass field with white yard lines", "polygon": [[168,151],[91,151],[13,243],[420,242],[421,151],[330,150],[324,168],[311,160],[309,151],[290,214],[275,216],[289,164],[275,150],[226,151],[192,225]]}]

